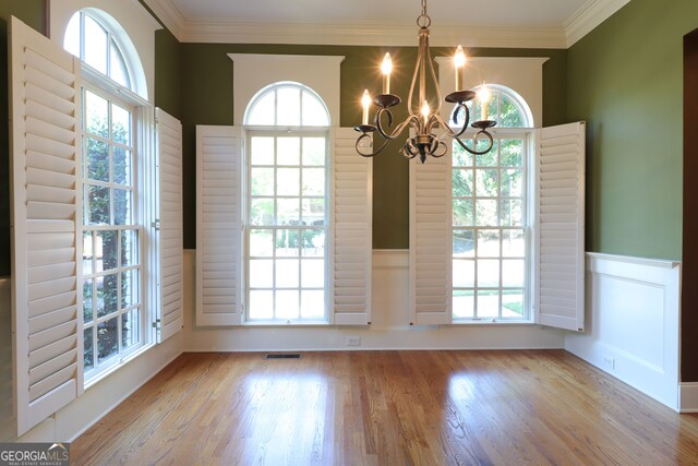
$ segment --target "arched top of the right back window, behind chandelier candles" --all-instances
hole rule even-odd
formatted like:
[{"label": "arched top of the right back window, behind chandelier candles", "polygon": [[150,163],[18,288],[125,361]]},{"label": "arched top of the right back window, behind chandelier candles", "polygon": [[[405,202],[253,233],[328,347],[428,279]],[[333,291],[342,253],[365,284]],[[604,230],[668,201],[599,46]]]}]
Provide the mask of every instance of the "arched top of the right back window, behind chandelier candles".
[{"label": "arched top of the right back window, behind chandelier candles", "polygon": [[[495,120],[497,128],[534,128],[531,109],[520,95],[514,89],[500,85],[490,84],[490,100],[488,105],[488,119]],[[482,86],[477,86],[472,91],[479,92]],[[481,120],[482,106],[476,98],[470,108],[470,120]]]}]

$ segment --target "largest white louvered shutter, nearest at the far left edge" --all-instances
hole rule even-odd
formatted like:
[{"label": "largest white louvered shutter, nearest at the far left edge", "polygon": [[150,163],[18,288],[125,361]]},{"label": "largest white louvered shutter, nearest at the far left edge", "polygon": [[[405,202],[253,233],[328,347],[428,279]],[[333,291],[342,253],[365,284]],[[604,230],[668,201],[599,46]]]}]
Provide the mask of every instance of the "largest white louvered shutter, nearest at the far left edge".
[{"label": "largest white louvered shutter, nearest at the far left edge", "polygon": [[80,62],[17,19],[10,27],[19,437],[83,391]]}]

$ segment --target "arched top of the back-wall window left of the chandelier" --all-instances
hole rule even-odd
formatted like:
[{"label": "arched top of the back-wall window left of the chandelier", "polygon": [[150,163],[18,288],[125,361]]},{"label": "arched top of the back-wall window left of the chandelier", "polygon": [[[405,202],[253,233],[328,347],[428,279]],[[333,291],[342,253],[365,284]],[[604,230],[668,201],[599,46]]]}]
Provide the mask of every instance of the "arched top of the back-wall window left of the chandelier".
[{"label": "arched top of the back-wall window left of the chandelier", "polygon": [[328,127],[323,99],[300,83],[279,82],[264,87],[248,105],[244,124],[260,127]]}]

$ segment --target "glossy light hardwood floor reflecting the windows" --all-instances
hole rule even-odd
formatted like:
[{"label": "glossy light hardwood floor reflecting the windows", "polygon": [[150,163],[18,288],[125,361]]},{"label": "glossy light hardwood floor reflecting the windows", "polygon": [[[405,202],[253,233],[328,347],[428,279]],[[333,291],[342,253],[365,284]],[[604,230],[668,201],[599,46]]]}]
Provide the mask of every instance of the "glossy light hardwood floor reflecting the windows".
[{"label": "glossy light hardwood floor reflecting the windows", "polygon": [[73,464],[698,464],[678,415],[564,350],[184,354]]}]

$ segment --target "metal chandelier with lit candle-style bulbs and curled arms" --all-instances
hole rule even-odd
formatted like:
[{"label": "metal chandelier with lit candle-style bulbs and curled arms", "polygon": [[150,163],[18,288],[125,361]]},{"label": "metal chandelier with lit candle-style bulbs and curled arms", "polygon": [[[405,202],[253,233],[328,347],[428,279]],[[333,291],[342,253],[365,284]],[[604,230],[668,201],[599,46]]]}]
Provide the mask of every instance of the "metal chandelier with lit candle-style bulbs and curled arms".
[{"label": "metal chandelier with lit candle-style bulbs and curled arms", "polygon": [[[397,95],[390,94],[390,72],[393,70],[393,63],[390,55],[386,53],[383,64],[381,67],[383,72],[383,93],[376,95],[373,98],[373,104],[378,107],[375,113],[374,124],[369,124],[369,109],[371,107],[371,96],[369,91],[363,92],[361,99],[363,106],[362,123],[354,127],[354,130],[360,132],[361,135],[357,139],[356,150],[359,155],[363,157],[373,157],[380,154],[386,145],[396,140],[402,131],[410,129],[410,138],[400,150],[400,153],[407,158],[414,158],[419,155],[419,159],[423,164],[426,160],[426,156],[443,157],[448,147],[446,143],[441,141],[434,131],[438,128],[443,132],[453,138],[460,144],[460,146],[474,155],[482,155],[490,152],[493,145],[492,134],[488,132],[488,129],[494,127],[496,121],[488,119],[488,99],[489,91],[486,85],[482,85],[480,92],[476,94],[473,91],[462,89],[462,69],[466,63],[466,56],[462,48],[458,46],[454,56],[455,70],[456,70],[456,89],[448,94],[445,100],[449,104],[454,104],[453,122],[455,128],[448,126],[440,116],[441,110],[441,89],[436,81],[436,73],[434,71],[434,63],[432,60],[431,51],[429,49],[429,26],[432,24],[432,19],[426,13],[426,0],[422,0],[422,14],[417,19],[417,25],[419,29],[419,51],[417,56],[417,64],[414,65],[414,74],[412,75],[412,84],[410,85],[408,100],[409,115],[405,121],[395,127],[393,131],[389,128],[393,127],[394,117],[390,112],[390,108],[398,105],[401,99]],[[429,75],[428,75],[429,73]],[[436,108],[432,109],[429,106],[426,97],[426,84],[428,80],[431,80],[433,86],[436,89]],[[419,86],[419,87],[418,87]],[[416,93],[417,89],[417,93]],[[467,103],[472,100],[476,95],[480,97],[482,104],[482,119],[473,121],[471,127],[479,130],[474,135],[472,148],[466,145],[460,136],[464,135],[468,129],[470,122],[470,109]],[[462,126],[459,126],[458,121],[460,115]],[[458,128],[460,127],[460,128]],[[376,151],[372,151],[371,133],[377,131],[385,140],[383,145]],[[485,150],[477,151],[478,141],[488,141]],[[371,152],[368,152],[371,151]]]}]

